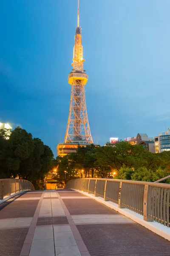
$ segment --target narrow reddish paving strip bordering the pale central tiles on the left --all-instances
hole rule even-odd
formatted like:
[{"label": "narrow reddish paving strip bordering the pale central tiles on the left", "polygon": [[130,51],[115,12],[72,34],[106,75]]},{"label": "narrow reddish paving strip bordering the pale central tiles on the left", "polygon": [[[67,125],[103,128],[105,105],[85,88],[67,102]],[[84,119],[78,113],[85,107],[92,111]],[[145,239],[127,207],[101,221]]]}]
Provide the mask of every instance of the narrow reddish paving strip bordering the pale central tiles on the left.
[{"label": "narrow reddish paving strip bordering the pale central tiles on the left", "polygon": [[[44,194],[45,194],[45,192],[42,192],[40,201],[37,205],[37,209],[35,210],[35,213],[34,213],[34,216],[32,218],[32,221],[31,221],[26,239],[24,241],[23,248],[21,250],[20,256],[29,256],[29,252],[30,252],[30,249],[31,249],[31,244],[32,244],[33,237],[34,237],[35,227],[36,227],[36,224],[37,224],[38,214],[40,212],[40,208],[41,208],[42,199],[44,197]],[[32,235],[32,239],[30,239],[30,235]],[[31,242],[28,243],[28,241],[31,241]]]}]

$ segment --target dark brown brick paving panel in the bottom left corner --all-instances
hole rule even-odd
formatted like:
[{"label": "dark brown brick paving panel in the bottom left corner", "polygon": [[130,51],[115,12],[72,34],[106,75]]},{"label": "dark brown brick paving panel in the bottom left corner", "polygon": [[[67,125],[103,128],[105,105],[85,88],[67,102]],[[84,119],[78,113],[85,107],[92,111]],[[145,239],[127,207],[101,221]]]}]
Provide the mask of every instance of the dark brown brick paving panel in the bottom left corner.
[{"label": "dark brown brick paving panel in the bottom left corner", "polygon": [[0,230],[0,256],[20,256],[28,228]]}]

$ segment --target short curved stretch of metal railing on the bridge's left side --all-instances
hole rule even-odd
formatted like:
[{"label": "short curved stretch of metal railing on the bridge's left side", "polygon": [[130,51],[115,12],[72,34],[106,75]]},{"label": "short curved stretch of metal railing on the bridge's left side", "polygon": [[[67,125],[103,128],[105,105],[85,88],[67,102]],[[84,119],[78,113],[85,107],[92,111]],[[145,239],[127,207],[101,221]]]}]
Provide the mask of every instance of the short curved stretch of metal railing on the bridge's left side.
[{"label": "short curved stretch of metal railing on the bridge's left side", "polygon": [[3,199],[4,196],[23,190],[34,190],[34,186],[28,180],[0,179],[0,200]]}]

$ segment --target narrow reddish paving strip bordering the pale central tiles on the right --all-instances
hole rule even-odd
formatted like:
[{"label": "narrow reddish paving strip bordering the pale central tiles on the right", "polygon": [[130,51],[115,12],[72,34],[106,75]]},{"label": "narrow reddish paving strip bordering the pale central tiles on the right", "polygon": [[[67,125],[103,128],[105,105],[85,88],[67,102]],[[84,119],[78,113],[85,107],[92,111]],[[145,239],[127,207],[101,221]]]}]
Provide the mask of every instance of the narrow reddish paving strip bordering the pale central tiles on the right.
[{"label": "narrow reddish paving strip bordering the pale central tiles on the right", "polygon": [[[83,255],[83,253],[86,252],[86,254],[88,256],[88,253],[89,253],[88,249],[85,246],[84,241],[82,240],[82,237],[81,237],[81,235],[79,233],[79,230],[76,227],[76,224],[74,223],[74,221],[73,221],[73,219],[72,219],[72,217],[71,217],[67,207],[65,206],[65,203],[63,202],[62,197],[59,195],[58,192],[56,192],[56,194],[57,194],[57,196],[59,198],[59,201],[60,201],[60,203],[62,205],[62,208],[63,208],[63,210],[65,212],[65,215],[66,215],[66,217],[68,219],[68,223],[69,223],[69,225],[71,227],[71,231],[73,233],[74,239],[75,239],[75,241],[77,243],[77,246],[79,248],[79,251],[80,251],[81,255]],[[89,256],[90,256],[90,253],[89,253]]]}]

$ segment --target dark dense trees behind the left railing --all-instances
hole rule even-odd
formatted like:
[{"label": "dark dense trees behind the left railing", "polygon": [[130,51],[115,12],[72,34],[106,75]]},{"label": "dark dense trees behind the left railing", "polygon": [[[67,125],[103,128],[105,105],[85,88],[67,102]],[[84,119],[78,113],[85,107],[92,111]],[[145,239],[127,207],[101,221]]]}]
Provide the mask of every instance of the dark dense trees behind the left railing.
[{"label": "dark dense trees behind the left railing", "polygon": [[51,170],[51,148],[20,127],[11,132],[9,139],[6,136],[6,129],[0,130],[0,178],[23,178],[38,188]]}]

